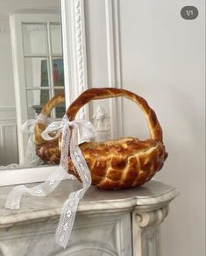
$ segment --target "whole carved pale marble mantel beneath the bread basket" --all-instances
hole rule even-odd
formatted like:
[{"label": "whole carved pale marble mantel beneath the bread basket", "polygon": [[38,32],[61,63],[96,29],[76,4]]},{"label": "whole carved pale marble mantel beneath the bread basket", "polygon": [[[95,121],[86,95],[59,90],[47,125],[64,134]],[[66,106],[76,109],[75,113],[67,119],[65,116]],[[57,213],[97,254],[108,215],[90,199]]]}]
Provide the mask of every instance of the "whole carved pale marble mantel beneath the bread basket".
[{"label": "whole carved pale marble mantel beneath the bread basket", "polygon": [[62,181],[46,197],[24,196],[20,210],[4,209],[11,188],[0,188],[1,256],[160,256],[160,224],[178,195],[160,181],[114,191],[91,187],[79,204],[64,250],[55,244],[54,233],[62,205],[80,188],[79,182]]}]

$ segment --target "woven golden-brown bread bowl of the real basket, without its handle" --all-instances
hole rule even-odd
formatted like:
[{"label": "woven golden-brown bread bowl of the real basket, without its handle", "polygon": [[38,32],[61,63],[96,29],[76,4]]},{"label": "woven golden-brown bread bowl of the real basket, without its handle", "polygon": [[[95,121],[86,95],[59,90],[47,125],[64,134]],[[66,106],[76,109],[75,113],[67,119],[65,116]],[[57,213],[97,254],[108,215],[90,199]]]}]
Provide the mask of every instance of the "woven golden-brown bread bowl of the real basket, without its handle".
[{"label": "woven golden-brown bread bowl of the real basket, without its handle", "polygon": [[[131,188],[144,184],[163,166],[167,158],[162,142],[124,138],[80,145],[89,166],[92,184],[99,188]],[[68,158],[70,172],[80,180]]]}]

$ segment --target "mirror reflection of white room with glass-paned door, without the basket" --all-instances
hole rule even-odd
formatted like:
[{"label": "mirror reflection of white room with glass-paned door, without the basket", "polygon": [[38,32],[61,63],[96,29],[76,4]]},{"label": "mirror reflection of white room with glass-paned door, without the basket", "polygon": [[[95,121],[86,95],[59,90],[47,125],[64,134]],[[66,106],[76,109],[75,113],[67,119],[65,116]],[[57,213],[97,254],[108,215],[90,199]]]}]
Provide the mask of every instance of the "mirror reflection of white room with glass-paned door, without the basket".
[{"label": "mirror reflection of white room with glass-paned door, without the basket", "polygon": [[[17,2],[0,3],[0,53],[5,60],[0,64],[0,166],[24,162],[28,133],[20,131],[21,125],[64,92],[59,1]],[[62,103],[50,117],[64,113]]]}]

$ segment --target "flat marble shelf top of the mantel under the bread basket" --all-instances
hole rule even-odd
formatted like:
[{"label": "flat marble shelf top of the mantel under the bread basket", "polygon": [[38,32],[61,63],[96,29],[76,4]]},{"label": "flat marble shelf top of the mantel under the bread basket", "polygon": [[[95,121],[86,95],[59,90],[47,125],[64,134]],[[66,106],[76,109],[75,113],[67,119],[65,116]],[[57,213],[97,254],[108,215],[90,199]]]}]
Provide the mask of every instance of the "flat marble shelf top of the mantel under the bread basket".
[{"label": "flat marble shelf top of the mantel under the bread basket", "polygon": [[[28,184],[27,186],[33,187],[34,184]],[[19,210],[4,209],[6,197],[14,186],[0,187],[0,228],[59,216],[67,196],[80,186],[78,181],[67,180],[62,181],[59,187],[49,196],[23,196]],[[110,191],[92,186],[79,204],[77,214],[92,214],[103,210],[107,212],[131,210],[134,207],[154,209],[157,206],[160,207],[160,204],[164,205],[170,202],[178,194],[176,188],[160,181],[149,181],[140,188]]]}]

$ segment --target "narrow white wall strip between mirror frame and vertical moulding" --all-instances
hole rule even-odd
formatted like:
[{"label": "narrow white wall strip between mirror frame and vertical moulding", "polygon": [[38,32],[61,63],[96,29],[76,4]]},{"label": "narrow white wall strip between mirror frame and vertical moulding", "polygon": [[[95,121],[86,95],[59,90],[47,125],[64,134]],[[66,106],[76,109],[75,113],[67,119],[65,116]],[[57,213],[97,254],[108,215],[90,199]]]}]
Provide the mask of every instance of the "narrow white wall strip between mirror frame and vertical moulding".
[{"label": "narrow white wall strip between mirror frame and vertical moulding", "polygon": [[[107,31],[104,1],[85,1],[85,12],[89,87],[108,87]],[[109,100],[94,101],[89,106],[90,117],[95,116],[97,107],[102,107],[110,118]],[[107,139],[110,139],[110,136]]]}]

